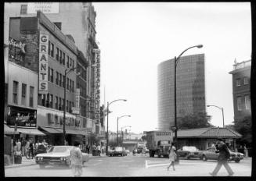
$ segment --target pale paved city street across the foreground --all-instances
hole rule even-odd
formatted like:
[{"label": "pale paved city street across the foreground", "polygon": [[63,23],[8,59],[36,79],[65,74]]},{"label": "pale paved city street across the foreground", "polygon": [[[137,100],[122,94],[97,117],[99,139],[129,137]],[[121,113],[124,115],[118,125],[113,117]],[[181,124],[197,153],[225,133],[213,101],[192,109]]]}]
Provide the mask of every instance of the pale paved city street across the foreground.
[{"label": "pale paved city street across the foreground", "polygon": [[[175,171],[167,171],[168,158],[150,158],[148,155],[137,154],[126,157],[96,157],[90,158],[83,167],[82,176],[88,177],[126,177],[126,176],[210,176],[209,172],[215,169],[217,161],[180,160],[175,165]],[[251,176],[251,158],[244,158],[240,163],[229,162],[235,172],[234,176]],[[227,176],[228,173],[222,167],[218,176]],[[27,176],[72,176],[67,167],[49,166],[39,169],[38,165],[27,165],[5,168],[5,177]]]}]

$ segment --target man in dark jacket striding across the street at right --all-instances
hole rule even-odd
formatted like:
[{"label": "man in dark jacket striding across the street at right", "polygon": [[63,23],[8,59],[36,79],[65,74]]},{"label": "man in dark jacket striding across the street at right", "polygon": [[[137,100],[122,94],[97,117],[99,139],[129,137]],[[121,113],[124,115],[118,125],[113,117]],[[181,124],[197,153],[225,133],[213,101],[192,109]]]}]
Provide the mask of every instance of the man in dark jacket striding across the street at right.
[{"label": "man in dark jacket striding across the street at right", "polygon": [[222,165],[224,165],[225,169],[229,172],[229,176],[233,176],[234,172],[228,164],[228,159],[230,157],[230,154],[229,154],[229,149],[227,145],[224,143],[222,139],[218,139],[216,148],[219,152],[218,164],[216,165],[215,170],[213,172],[210,172],[210,175],[217,176],[219,169],[221,169]]}]

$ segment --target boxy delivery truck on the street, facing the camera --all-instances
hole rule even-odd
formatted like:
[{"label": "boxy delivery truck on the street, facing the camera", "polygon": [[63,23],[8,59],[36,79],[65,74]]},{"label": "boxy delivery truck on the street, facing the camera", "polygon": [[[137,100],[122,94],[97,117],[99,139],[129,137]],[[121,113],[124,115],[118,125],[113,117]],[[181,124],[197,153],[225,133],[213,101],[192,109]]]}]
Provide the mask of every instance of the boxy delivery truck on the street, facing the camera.
[{"label": "boxy delivery truck on the street, facing the camera", "polygon": [[146,147],[149,149],[150,157],[157,154],[160,157],[169,157],[169,148],[173,141],[172,131],[146,131]]}]

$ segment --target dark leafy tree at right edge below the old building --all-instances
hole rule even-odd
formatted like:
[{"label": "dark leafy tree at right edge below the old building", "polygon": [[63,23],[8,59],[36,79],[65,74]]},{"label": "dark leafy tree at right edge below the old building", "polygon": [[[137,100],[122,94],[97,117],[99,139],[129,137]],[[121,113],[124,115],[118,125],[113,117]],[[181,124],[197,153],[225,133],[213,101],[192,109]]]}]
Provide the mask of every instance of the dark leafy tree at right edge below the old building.
[{"label": "dark leafy tree at right edge below the old building", "polygon": [[251,115],[238,119],[235,122],[235,130],[243,137],[237,140],[240,144],[247,144],[251,146],[252,133],[251,133]]}]

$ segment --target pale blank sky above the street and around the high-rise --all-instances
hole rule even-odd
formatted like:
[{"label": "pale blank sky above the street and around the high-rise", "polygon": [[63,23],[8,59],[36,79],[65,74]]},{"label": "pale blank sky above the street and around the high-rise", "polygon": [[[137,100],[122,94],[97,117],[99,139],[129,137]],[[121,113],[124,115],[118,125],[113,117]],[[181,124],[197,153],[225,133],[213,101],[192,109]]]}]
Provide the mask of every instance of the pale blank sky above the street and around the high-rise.
[{"label": "pale blank sky above the street and around the high-rise", "polygon": [[[101,103],[110,105],[109,130],[157,129],[157,66],[184,55],[205,54],[206,105],[224,109],[233,122],[234,60],[251,59],[250,2],[93,2],[101,50]],[[206,108],[211,124],[222,126],[222,111]]]}]

